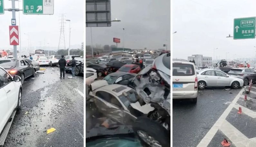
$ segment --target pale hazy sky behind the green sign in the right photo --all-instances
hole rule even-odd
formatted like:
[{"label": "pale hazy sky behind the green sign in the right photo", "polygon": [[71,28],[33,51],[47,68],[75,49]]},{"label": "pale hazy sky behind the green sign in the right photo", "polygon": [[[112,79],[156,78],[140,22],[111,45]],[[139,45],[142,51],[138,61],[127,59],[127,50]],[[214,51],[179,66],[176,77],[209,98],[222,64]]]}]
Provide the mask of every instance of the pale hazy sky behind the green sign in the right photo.
[{"label": "pale hazy sky behind the green sign in the right photo", "polygon": [[[173,58],[203,54],[233,59],[255,57],[256,39],[233,40],[233,19],[256,16],[255,0],[174,0]],[[236,55],[235,55],[236,54]]]}]

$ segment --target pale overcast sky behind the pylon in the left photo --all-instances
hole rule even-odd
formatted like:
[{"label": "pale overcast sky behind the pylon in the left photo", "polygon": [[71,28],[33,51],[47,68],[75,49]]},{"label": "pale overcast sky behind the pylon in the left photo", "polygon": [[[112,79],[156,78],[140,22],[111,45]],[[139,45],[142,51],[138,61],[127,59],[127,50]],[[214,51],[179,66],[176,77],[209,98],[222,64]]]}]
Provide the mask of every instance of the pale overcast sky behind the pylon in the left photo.
[{"label": "pale overcast sky behind the pylon in the left photo", "polygon": [[[11,8],[11,1],[4,0],[5,8]],[[18,2],[16,2],[18,8]],[[22,9],[22,1],[20,1]],[[66,19],[71,20],[71,47],[81,47],[83,42],[83,0],[54,0],[54,15],[24,15],[20,12],[20,29],[22,48],[28,47],[28,36],[24,33],[29,33],[31,46],[48,46],[58,48],[60,37],[60,15],[64,13]],[[18,13],[16,13],[17,25]],[[9,43],[9,25],[11,25],[12,12],[5,11],[5,14],[0,15],[0,49],[13,48]],[[66,48],[69,45],[69,22],[65,23],[65,40]],[[19,50],[19,46],[17,49]],[[32,48],[33,49],[33,48]]]}]

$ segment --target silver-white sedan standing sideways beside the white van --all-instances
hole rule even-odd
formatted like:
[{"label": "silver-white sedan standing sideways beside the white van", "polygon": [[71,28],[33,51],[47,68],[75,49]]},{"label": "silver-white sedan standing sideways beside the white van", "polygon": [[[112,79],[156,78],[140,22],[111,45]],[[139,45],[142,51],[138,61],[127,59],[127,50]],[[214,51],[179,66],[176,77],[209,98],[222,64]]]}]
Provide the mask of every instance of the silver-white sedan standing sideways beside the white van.
[{"label": "silver-white sedan standing sideways beside the white van", "polygon": [[197,74],[198,89],[205,87],[224,87],[231,86],[234,89],[243,86],[242,78],[232,77],[223,71],[216,69],[205,69]]}]

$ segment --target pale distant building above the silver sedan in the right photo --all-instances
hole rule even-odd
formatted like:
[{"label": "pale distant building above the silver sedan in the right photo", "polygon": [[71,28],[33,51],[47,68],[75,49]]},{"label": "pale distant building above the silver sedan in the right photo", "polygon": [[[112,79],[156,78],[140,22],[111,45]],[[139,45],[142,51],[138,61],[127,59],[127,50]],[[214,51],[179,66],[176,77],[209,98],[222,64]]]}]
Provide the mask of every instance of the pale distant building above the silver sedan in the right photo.
[{"label": "pale distant building above the silver sedan in the right photo", "polygon": [[195,61],[196,66],[212,66],[212,57],[203,57],[203,55],[192,55],[187,60]]}]

